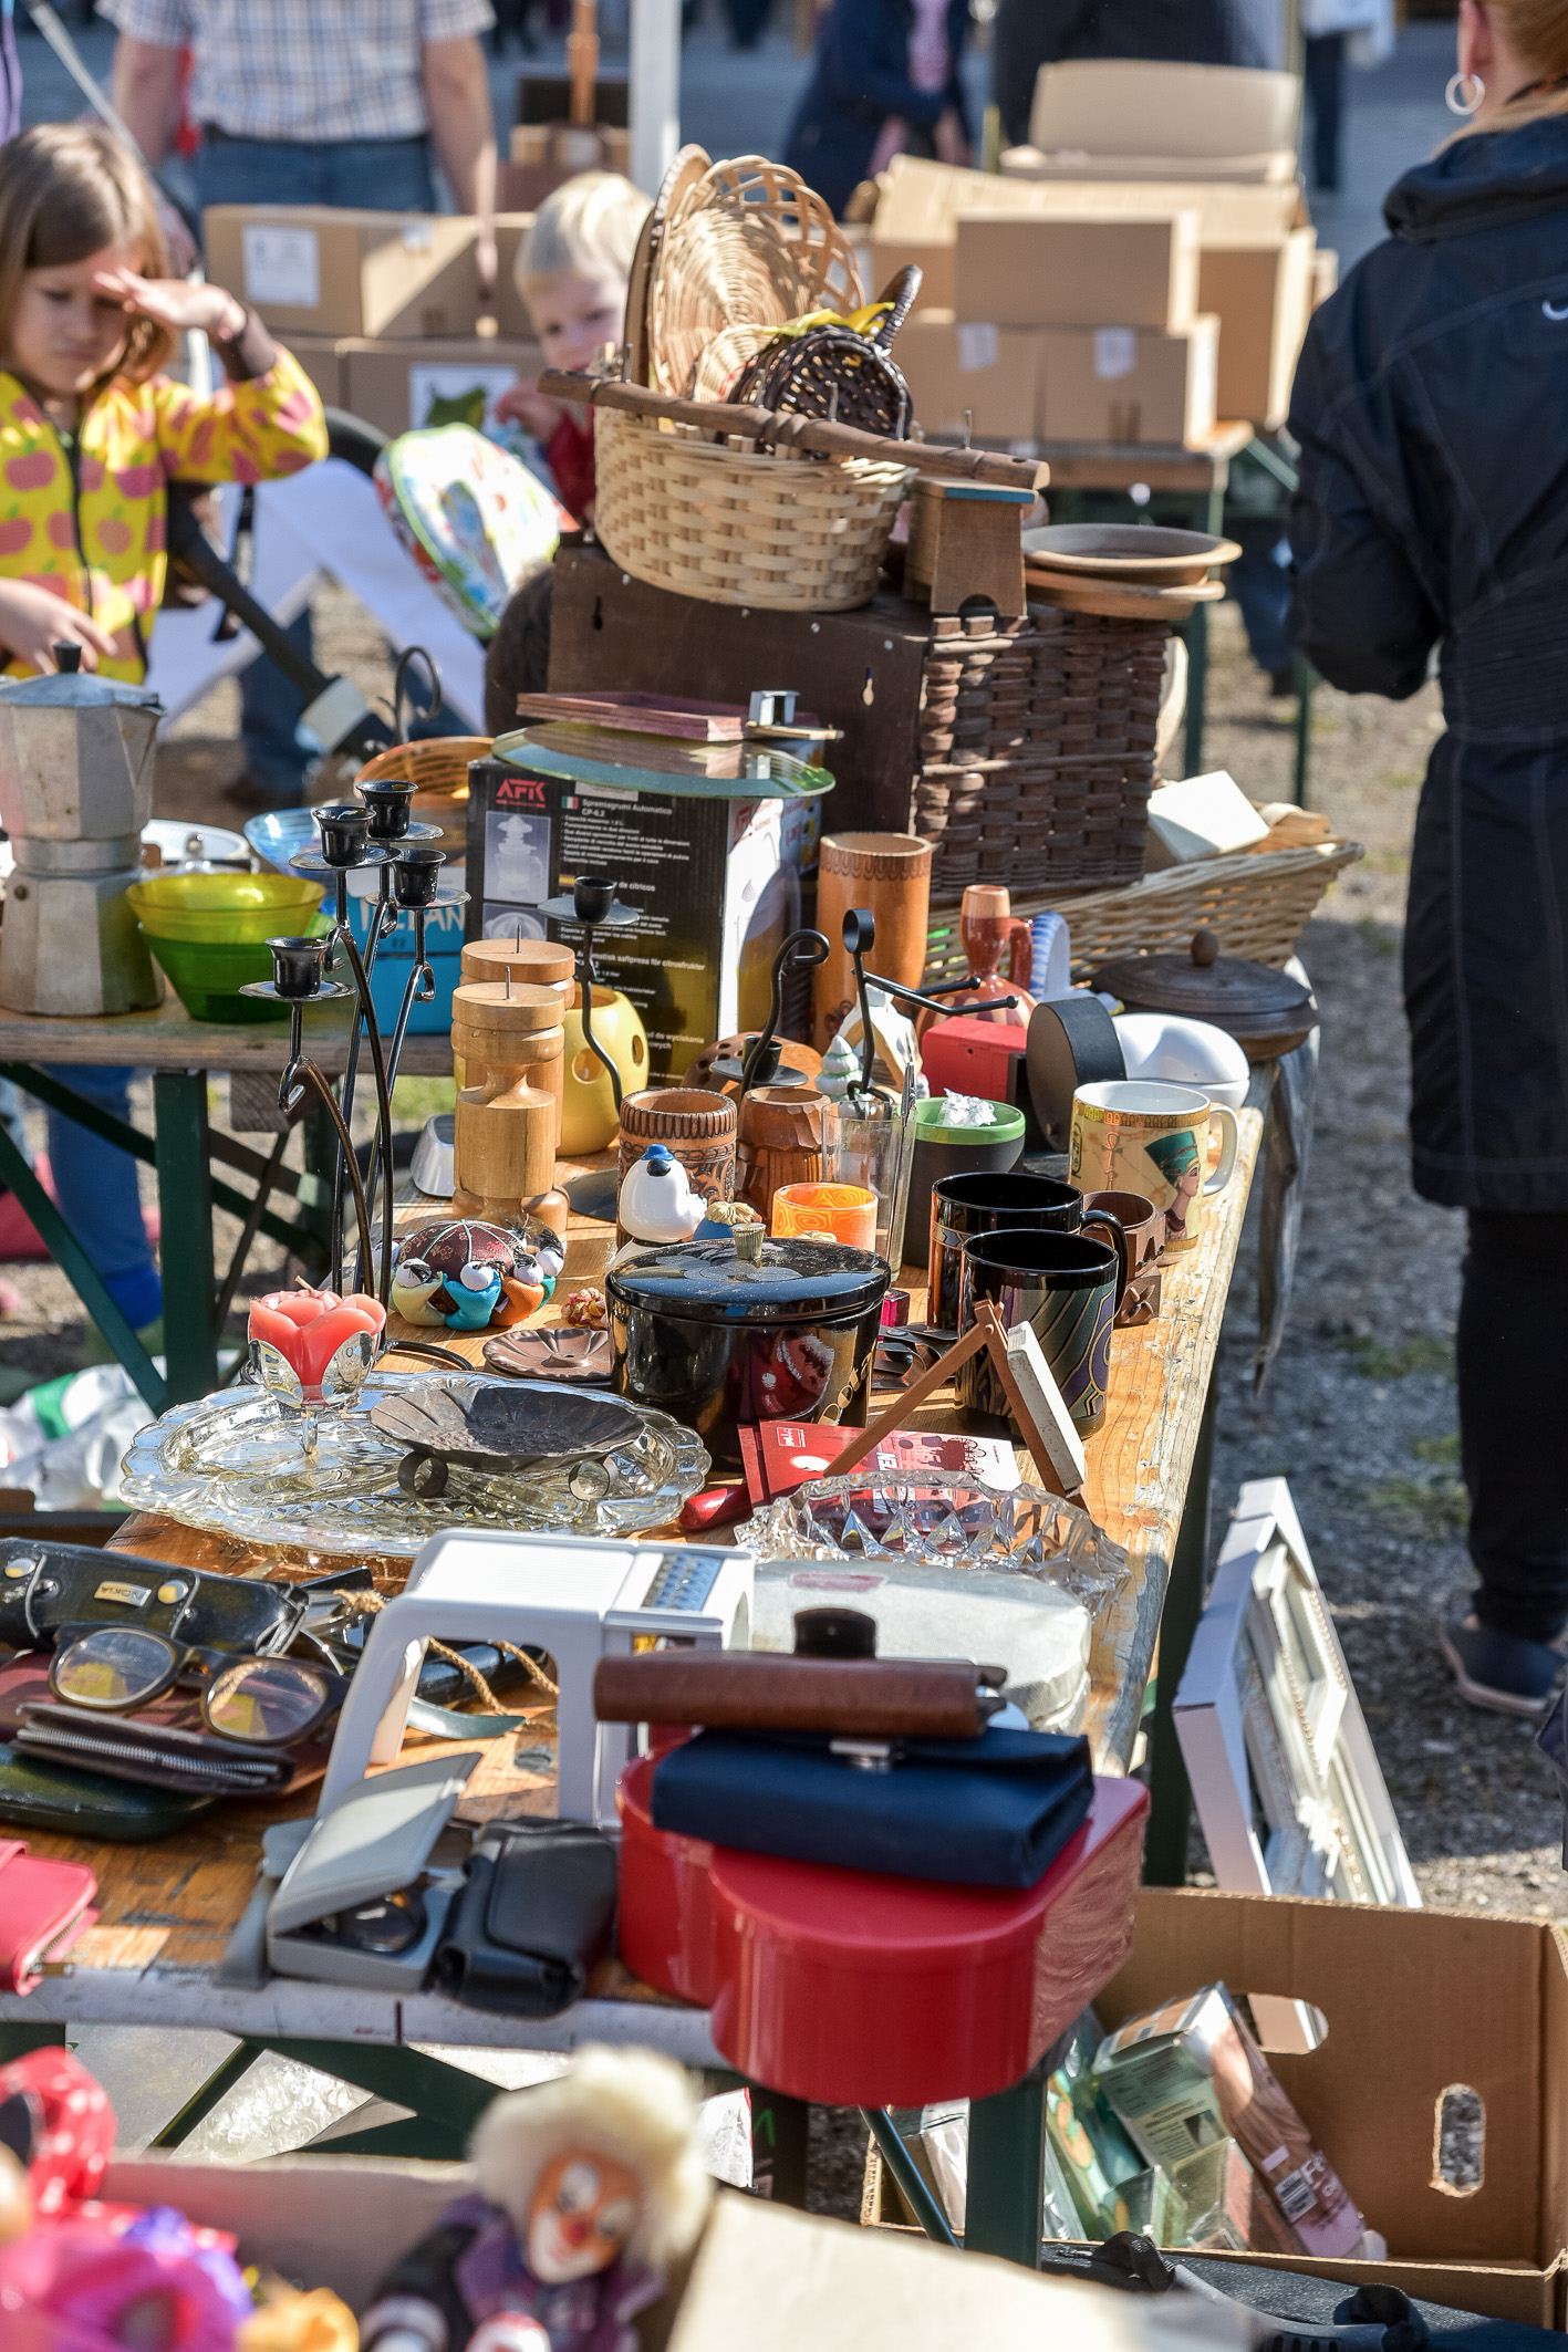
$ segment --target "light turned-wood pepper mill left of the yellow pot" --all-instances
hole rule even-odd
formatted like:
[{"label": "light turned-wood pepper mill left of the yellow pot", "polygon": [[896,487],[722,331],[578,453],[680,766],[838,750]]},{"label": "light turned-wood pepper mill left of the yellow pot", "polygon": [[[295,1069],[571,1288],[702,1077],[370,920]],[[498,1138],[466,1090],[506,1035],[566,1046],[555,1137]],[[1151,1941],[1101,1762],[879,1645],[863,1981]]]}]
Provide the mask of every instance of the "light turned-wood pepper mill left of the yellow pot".
[{"label": "light turned-wood pepper mill left of the yellow pot", "polygon": [[520,1223],[536,1216],[567,1232],[555,1188],[567,1033],[552,988],[468,981],[451,993],[454,1192],[458,1216]]}]

